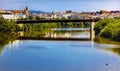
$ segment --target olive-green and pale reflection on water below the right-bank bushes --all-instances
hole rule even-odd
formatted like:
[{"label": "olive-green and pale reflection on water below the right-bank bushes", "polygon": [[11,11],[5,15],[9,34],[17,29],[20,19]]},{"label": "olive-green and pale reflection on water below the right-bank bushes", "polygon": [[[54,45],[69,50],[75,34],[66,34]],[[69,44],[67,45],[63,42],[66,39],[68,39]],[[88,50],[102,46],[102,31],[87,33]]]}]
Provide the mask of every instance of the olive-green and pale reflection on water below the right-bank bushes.
[{"label": "olive-green and pale reflection on water below the right-bank bushes", "polygon": [[110,41],[108,39],[105,39],[99,36],[95,37],[94,42],[103,45],[99,49],[104,51],[109,51],[120,56],[120,42]]}]

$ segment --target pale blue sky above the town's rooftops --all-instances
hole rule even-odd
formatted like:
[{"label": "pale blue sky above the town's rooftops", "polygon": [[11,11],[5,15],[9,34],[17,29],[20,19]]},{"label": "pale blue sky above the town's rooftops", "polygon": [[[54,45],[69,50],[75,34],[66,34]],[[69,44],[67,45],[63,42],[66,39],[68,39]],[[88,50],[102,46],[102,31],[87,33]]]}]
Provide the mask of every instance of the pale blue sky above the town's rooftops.
[{"label": "pale blue sky above the town's rooftops", "polygon": [[120,0],[0,0],[0,9],[19,10],[40,10],[45,12],[58,12],[72,10],[99,11],[99,10],[120,10]]}]

